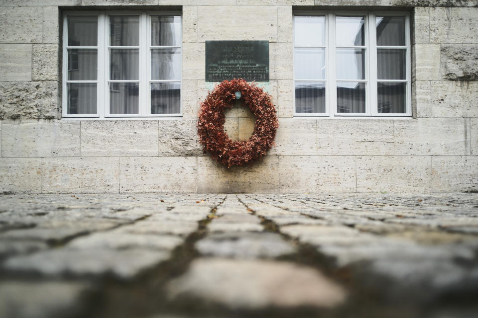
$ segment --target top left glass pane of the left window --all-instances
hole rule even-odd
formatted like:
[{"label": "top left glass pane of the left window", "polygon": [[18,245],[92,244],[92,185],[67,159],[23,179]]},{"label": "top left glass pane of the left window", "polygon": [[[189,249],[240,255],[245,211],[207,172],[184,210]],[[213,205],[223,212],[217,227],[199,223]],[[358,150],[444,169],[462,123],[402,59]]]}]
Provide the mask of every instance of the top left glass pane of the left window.
[{"label": "top left glass pane of the left window", "polygon": [[69,16],[68,46],[97,46],[98,17]]}]

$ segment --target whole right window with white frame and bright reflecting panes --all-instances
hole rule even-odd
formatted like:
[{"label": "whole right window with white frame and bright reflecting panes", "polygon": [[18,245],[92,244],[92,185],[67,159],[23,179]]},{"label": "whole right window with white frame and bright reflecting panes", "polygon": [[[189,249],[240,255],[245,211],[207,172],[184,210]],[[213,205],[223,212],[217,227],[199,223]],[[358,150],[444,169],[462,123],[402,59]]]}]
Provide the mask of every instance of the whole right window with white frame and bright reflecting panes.
[{"label": "whole right window with white frame and bright reflecting panes", "polygon": [[406,12],[294,15],[296,116],[411,116]]}]

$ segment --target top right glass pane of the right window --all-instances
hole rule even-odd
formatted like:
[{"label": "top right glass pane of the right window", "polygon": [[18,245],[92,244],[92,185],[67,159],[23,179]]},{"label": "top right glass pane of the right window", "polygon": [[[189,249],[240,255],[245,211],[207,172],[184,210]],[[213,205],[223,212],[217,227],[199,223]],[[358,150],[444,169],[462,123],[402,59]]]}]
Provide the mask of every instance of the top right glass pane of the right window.
[{"label": "top right glass pane of the right window", "polygon": [[377,45],[405,45],[405,17],[377,16]]}]

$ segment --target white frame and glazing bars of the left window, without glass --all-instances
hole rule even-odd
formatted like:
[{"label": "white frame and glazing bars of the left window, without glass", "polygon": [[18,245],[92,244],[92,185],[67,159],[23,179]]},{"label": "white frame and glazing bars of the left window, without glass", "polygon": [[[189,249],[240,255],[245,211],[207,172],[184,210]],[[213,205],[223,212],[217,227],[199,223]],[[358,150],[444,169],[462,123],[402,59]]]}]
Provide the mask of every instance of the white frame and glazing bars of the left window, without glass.
[{"label": "white frame and glazing bars of the left window, without glass", "polygon": [[[95,47],[71,47],[68,46],[68,16],[98,16],[98,43]],[[135,80],[110,80],[110,16],[113,15],[134,15],[139,16],[139,46],[129,47],[121,46],[118,48],[137,48],[139,49],[139,92],[138,114],[110,114],[110,83],[111,82],[135,82]],[[151,46],[151,16],[158,15],[179,15],[181,16],[180,41],[177,46]],[[91,120],[111,120],[111,119],[167,119],[169,117],[182,117],[182,63],[180,63],[180,79],[151,80],[151,49],[154,48],[179,48],[180,61],[182,61],[182,14],[180,11],[66,11],[63,13],[63,62],[62,62],[62,117],[65,119],[91,119]],[[142,34],[146,34],[141,36]],[[98,50],[98,75],[97,80],[78,80],[68,79],[68,53],[67,49],[91,48]],[[97,83],[97,114],[68,114],[68,90],[67,83],[70,82],[96,82]],[[152,82],[179,82],[180,83],[180,111],[175,114],[151,114],[151,91]]]}]

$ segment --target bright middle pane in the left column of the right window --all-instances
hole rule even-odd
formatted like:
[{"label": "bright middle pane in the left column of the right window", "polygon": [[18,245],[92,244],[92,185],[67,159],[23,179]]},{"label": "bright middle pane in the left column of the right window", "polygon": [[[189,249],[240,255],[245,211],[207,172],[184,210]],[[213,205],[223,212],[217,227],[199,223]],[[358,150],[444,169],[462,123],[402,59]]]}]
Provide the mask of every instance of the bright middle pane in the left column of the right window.
[{"label": "bright middle pane in the left column of the right window", "polygon": [[325,79],[325,49],[296,48],[294,76],[295,79]]}]

